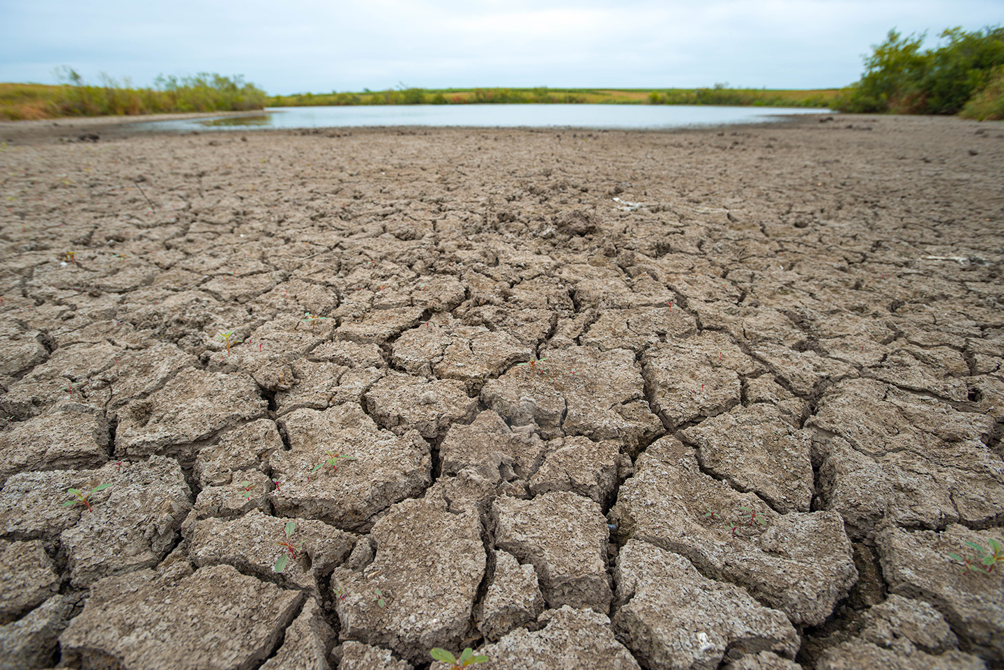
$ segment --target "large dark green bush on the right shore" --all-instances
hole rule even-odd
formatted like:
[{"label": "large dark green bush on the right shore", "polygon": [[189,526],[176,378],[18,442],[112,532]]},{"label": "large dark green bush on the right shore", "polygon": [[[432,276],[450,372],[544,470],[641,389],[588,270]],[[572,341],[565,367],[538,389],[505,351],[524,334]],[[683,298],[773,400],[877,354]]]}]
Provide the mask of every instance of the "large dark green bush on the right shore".
[{"label": "large dark green bush on the right shore", "polygon": [[835,108],[851,113],[954,115],[986,89],[1004,64],[1004,28],[951,28],[937,48],[922,50],[926,33],[890,30],[864,59],[860,80],[841,89]]}]

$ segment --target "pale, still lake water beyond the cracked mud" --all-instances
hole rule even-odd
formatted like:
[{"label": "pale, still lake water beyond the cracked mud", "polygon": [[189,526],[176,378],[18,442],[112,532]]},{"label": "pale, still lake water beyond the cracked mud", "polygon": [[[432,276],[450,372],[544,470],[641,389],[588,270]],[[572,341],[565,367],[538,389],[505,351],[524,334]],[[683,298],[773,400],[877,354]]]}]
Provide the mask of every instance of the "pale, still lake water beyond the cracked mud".
[{"label": "pale, still lake water beyond the cracked mud", "polygon": [[668,129],[779,121],[785,115],[828,114],[805,107],[690,104],[414,104],[266,107],[265,113],[137,124],[138,131],[253,131],[360,126],[473,128]]}]

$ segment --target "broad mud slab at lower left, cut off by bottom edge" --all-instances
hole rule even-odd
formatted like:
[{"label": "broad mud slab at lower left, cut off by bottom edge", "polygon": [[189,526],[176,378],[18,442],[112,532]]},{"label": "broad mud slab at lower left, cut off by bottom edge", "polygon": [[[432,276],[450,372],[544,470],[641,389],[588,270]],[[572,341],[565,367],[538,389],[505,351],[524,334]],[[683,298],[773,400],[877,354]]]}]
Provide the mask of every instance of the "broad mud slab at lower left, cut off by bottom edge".
[{"label": "broad mud slab at lower left, cut off by bottom edge", "polygon": [[203,568],[179,582],[142,571],[93,585],[59,645],[64,663],[83,667],[181,670],[193,659],[203,667],[255,667],[275,649],[303,598],[230,566]]}]

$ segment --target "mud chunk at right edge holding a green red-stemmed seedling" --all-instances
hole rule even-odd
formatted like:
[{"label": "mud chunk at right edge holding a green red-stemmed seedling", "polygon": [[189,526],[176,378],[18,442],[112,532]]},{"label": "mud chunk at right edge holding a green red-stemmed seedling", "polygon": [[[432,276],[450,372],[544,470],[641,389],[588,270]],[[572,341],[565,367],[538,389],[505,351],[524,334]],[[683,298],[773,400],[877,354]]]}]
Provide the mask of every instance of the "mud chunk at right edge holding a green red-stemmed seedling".
[{"label": "mud chunk at right edge holding a green red-stemmed seedling", "polygon": [[[989,539],[1004,540],[1000,529],[970,530],[950,525],[943,532],[908,532],[887,526],[875,536],[883,577],[890,593],[931,603],[952,626],[964,648],[984,660],[1004,660],[1004,572],[980,574],[979,566],[965,573],[948,556],[975,556],[965,542],[989,548]],[[979,563],[979,561],[977,561]]]}]

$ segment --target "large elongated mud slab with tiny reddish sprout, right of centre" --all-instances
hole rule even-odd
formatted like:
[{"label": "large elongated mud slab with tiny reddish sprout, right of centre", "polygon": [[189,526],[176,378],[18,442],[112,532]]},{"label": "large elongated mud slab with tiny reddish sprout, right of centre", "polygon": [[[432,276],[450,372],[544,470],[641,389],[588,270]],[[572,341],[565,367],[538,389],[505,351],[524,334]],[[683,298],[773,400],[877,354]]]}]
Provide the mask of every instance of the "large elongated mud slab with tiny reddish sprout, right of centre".
[{"label": "large elongated mud slab with tiny reddish sprout, right of centre", "polygon": [[[767,525],[752,522],[741,507],[756,510]],[[755,495],[701,472],[694,451],[676,438],[657,440],[639,457],[610,517],[624,539],[681,553],[702,574],[744,587],[795,625],[821,624],[857,581],[838,514],[777,514]]]}]

